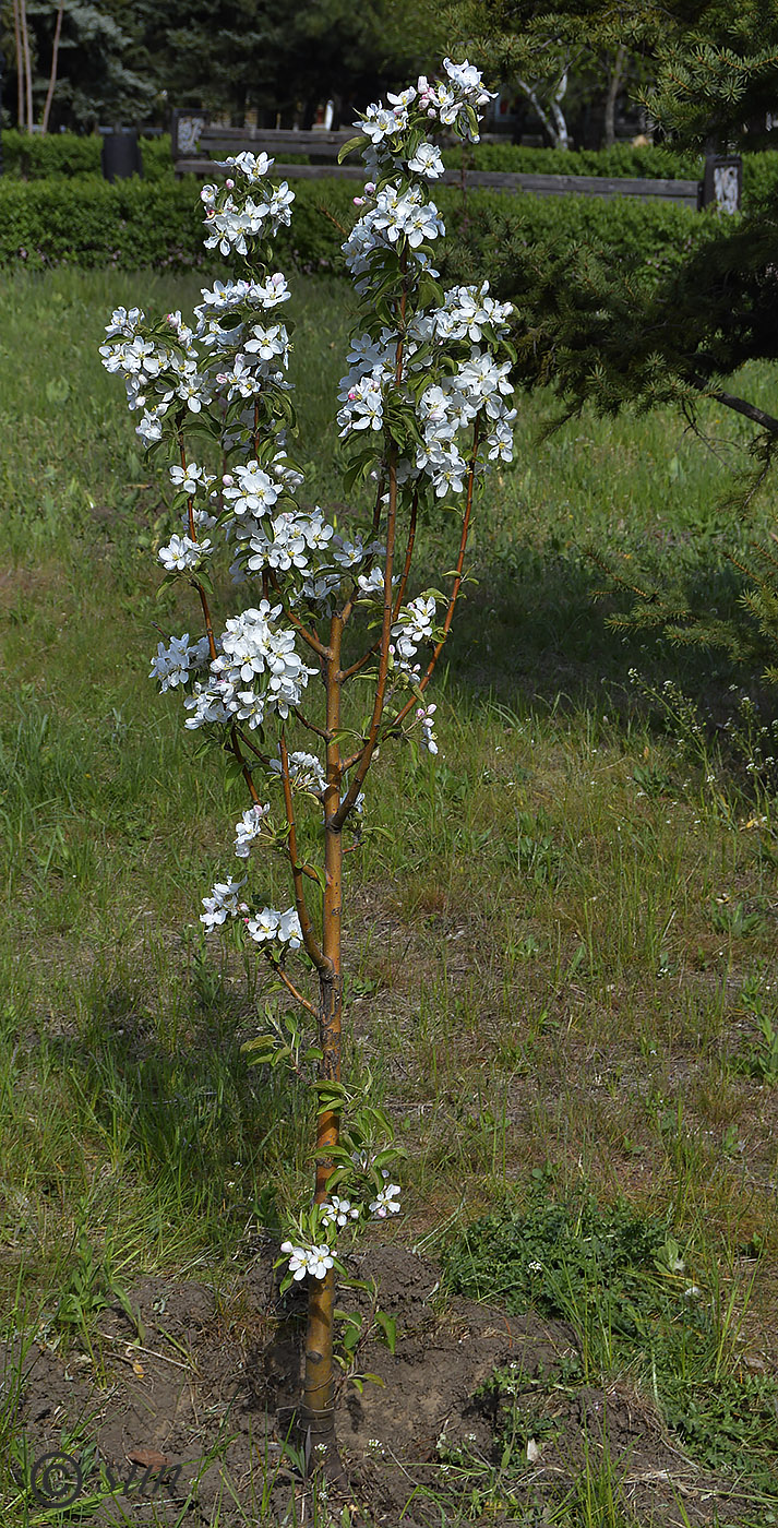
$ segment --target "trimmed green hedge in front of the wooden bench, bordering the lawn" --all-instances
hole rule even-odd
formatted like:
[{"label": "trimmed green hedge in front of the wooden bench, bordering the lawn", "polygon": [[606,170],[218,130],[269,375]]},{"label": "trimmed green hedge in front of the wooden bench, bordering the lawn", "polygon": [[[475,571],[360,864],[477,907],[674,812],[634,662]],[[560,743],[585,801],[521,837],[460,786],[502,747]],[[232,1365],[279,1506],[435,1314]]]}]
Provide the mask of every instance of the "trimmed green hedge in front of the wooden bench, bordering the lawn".
[{"label": "trimmed green hedge in front of the wooden bench, bordering the lawn", "polygon": [[[344,231],[355,222],[353,182],[316,180],[295,185],[290,229],[278,238],[278,261],[300,269],[342,270]],[[517,251],[549,243],[555,249],[605,243],[614,260],[640,260],[666,267],[717,219],[700,217],[674,203],[592,197],[506,196],[436,191],[449,228],[442,249],[443,275],[472,280],[489,275],[511,289]],[[76,264],[122,270],[154,267],[219,269],[222,257],[203,249],[199,182],[183,180],[0,180],[0,266],[20,261],[31,269]],[[507,254],[511,251],[511,254]]]}]

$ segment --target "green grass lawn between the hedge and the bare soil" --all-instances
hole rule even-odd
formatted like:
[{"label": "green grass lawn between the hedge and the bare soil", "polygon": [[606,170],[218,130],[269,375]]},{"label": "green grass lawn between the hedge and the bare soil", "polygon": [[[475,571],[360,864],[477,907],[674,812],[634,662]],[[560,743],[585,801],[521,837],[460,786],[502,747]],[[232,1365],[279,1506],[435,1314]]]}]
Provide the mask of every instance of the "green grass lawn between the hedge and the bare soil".
[{"label": "green grass lawn between the hedge and the bare soil", "polygon": [[[139,1276],[228,1291],[310,1175],[307,1105],[240,1051],[277,999],[200,935],[245,804],[147,678],[157,623],[197,616],[156,597],[164,487],[96,353],[115,304],[186,312],[197,290],[0,277],[0,1287],[9,1332],[87,1357]],[[332,507],[344,289],[298,280],[293,316],[298,455]],[[743,391],[770,406],[770,385],[754,368]],[[714,454],[669,414],[584,416],[540,445],[550,408],[520,400],[515,465],[478,506],[434,685],[440,755],[385,749],[368,781],[382,831],[347,860],[347,1065],[408,1149],[384,1241],[471,1297],[572,1323],[569,1384],[628,1375],[732,1481],[731,1516],[708,1520],[775,1522],[778,813],[772,766],[747,769],[772,697],[715,654],[611,630],[585,555],[673,567],[726,611],[725,550],[773,521],[764,498],[747,523],[721,507],[749,434],[720,410]],[[431,582],[446,556],[428,526]],[[587,1236],[619,1256],[582,1256]],[[527,1282],[527,1248],[547,1280]],[[20,1449],[11,1407],[3,1520],[60,1522],[18,1487]],[[544,1520],[633,1522],[598,1479]]]}]

